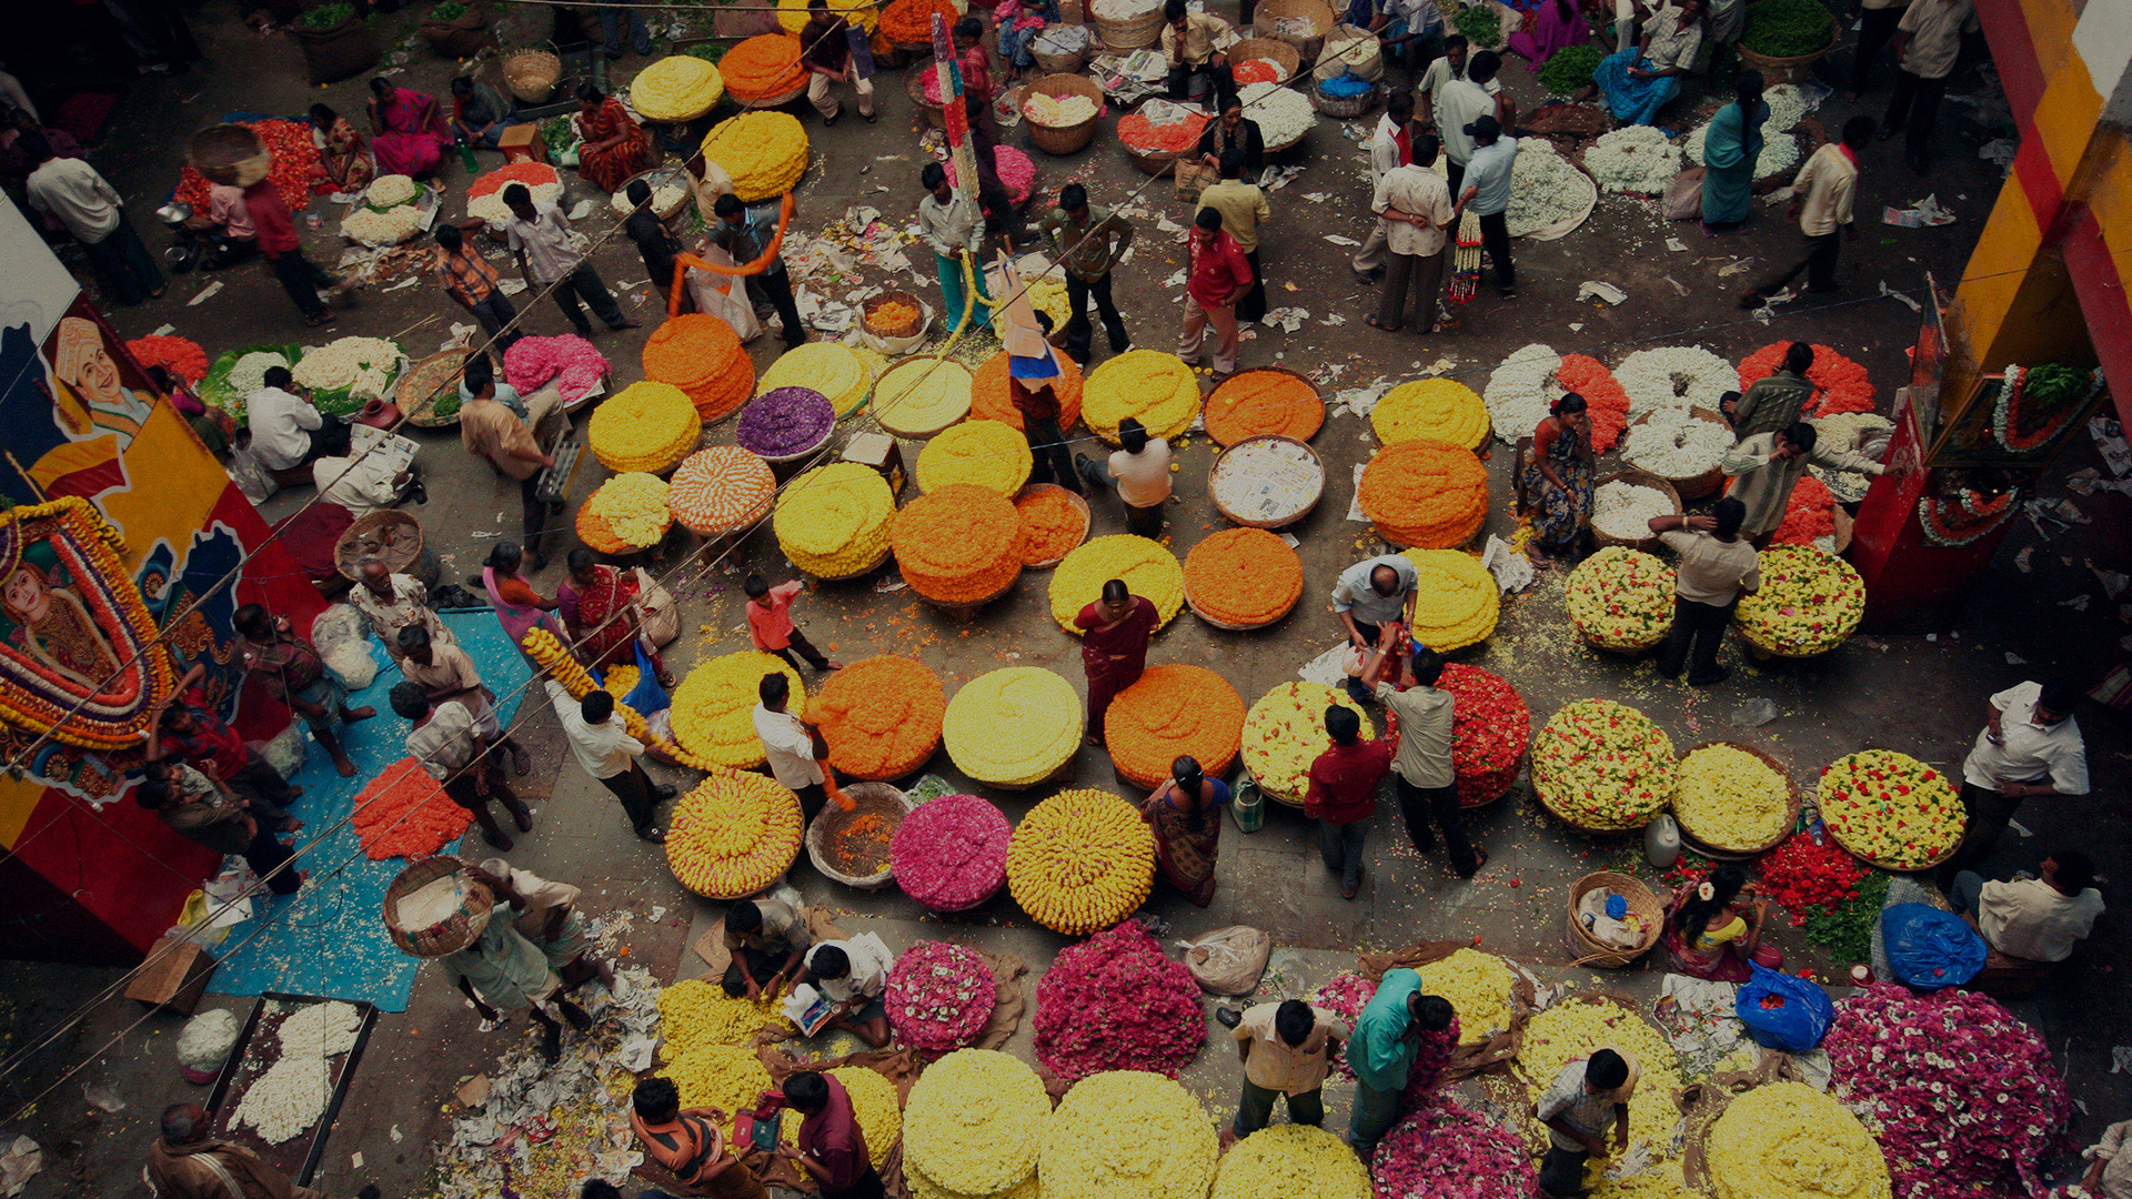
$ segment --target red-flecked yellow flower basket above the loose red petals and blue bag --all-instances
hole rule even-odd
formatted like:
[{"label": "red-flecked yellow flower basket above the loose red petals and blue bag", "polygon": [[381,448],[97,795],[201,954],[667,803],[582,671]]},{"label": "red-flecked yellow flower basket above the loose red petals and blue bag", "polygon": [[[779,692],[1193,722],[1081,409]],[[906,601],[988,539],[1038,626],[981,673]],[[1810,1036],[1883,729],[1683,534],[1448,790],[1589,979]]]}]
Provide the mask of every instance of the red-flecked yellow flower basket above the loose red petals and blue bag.
[{"label": "red-flecked yellow flower basket above the loose red petals and blue bag", "polygon": [[1891,749],[1861,749],[1829,762],[1814,804],[1844,849],[1891,870],[1919,870],[1947,858],[1968,828],[1947,774]]}]

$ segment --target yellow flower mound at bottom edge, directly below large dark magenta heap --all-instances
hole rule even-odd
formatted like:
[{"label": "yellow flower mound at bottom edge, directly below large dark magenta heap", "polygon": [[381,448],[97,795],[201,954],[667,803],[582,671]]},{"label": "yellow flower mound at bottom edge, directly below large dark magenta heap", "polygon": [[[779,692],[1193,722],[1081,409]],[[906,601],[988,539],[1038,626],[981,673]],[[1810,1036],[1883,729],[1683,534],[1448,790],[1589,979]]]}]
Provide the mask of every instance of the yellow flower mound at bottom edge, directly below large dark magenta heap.
[{"label": "yellow flower mound at bottom edge, directly below large dark magenta heap", "polygon": [[1190,1090],[1160,1073],[1102,1071],[1060,1099],[1036,1178],[1045,1199],[1207,1199],[1217,1150]]}]

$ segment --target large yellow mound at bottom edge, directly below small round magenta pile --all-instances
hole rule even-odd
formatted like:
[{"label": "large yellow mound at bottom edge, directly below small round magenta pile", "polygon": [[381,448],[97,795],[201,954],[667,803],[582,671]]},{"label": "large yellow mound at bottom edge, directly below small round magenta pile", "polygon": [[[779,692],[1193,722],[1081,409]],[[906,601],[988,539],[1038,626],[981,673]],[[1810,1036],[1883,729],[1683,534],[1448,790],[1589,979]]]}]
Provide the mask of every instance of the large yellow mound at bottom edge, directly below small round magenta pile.
[{"label": "large yellow mound at bottom edge, directly below small round magenta pile", "polygon": [[955,1050],[910,1084],[904,1171],[951,1195],[1002,1195],[1036,1178],[1049,1118],[1051,1097],[1019,1058]]}]

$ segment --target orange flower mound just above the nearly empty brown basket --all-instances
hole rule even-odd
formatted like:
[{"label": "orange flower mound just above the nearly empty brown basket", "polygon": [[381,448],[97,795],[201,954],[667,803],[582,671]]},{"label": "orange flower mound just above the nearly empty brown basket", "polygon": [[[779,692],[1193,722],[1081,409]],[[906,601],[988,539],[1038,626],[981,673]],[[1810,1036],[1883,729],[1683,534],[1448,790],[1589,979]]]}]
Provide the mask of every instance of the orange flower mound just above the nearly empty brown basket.
[{"label": "orange flower mound just above the nearly empty brown basket", "polygon": [[838,777],[885,783],[925,766],[940,749],[947,687],[923,661],[863,657],[821,685],[808,717],[829,742]]}]

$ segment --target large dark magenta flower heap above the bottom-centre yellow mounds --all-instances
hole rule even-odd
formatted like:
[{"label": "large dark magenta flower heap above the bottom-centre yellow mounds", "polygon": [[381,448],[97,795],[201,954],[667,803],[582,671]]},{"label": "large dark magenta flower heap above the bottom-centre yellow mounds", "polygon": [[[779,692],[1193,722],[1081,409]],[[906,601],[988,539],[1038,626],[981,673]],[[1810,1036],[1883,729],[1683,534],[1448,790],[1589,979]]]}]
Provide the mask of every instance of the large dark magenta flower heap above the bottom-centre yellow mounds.
[{"label": "large dark magenta flower heap above the bottom-centre yellow mounds", "polygon": [[1066,1082],[1102,1071],[1177,1077],[1207,1041],[1198,996],[1192,971],[1128,920],[1051,962],[1036,986],[1036,1060]]}]

